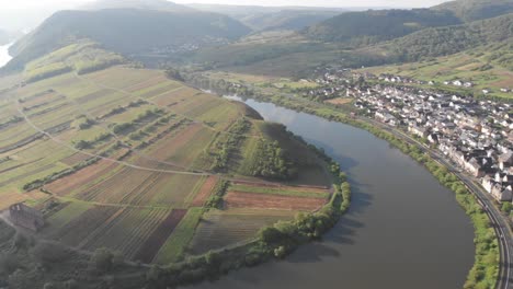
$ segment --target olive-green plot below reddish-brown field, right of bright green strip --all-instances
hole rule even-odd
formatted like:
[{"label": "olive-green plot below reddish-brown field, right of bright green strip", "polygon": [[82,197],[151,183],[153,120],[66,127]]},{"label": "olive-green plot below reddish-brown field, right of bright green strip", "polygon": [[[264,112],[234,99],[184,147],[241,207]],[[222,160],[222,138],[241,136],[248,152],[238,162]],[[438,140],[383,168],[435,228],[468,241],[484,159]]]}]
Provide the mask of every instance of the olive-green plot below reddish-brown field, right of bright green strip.
[{"label": "olive-green plot below reddish-brown field, right of bright green strip", "polygon": [[204,254],[209,250],[235,245],[251,240],[266,226],[290,220],[296,211],[232,209],[209,211],[200,222],[192,241],[191,253]]}]

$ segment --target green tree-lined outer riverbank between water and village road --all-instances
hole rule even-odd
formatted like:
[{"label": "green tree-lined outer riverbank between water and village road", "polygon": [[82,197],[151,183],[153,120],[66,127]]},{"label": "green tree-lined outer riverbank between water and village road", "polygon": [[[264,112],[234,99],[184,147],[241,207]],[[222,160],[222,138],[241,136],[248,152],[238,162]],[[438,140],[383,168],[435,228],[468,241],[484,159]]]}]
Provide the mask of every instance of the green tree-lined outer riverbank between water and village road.
[{"label": "green tree-lined outer riverbank between water and village road", "polygon": [[[396,137],[380,128],[376,128],[372,123],[364,119],[357,119],[349,114],[341,112],[332,106],[321,103],[315,103],[300,97],[290,95],[263,94],[259,93],[254,88],[230,85],[217,85],[216,82],[205,81],[200,78],[193,79],[194,83],[208,83],[208,89],[217,93],[237,93],[246,95],[248,99],[253,99],[262,102],[270,102],[278,106],[283,106],[297,112],[304,112],[322,117],[328,120],[347,124],[357,128],[362,128],[378,138],[381,138],[392,146],[400,149],[406,154],[412,157],[417,162],[424,165],[438,182],[456,194],[456,200],[470,217],[475,230],[475,264],[467,276],[465,288],[493,288],[499,276],[499,246],[497,235],[490,227],[490,220],[486,212],[481,209],[476,197],[465,186],[465,184],[455,174],[451,173],[445,166],[436,163],[429,154],[424,154],[422,149],[417,144],[409,143],[408,140]],[[223,83],[221,83],[223,84]]]}]

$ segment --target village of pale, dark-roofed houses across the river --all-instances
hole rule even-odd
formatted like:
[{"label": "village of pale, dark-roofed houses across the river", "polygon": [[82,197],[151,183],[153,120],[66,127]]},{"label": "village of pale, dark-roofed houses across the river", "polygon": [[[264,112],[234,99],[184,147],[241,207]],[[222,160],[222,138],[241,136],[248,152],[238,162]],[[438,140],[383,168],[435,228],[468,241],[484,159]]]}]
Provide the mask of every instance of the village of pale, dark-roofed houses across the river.
[{"label": "village of pale, dark-roofed houses across the river", "polygon": [[[368,79],[374,80],[373,84],[366,83]],[[310,99],[351,99],[358,114],[407,131],[436,148],[453,164],[474,176],[498,201],[512,201],[511,104],[406,85],[432,84],[411,78],[376,77],[353,73],[350,69],[324,71],[316,82],[323,88],[307,92]],[[474,84],[453,81],[447,85]]]}]

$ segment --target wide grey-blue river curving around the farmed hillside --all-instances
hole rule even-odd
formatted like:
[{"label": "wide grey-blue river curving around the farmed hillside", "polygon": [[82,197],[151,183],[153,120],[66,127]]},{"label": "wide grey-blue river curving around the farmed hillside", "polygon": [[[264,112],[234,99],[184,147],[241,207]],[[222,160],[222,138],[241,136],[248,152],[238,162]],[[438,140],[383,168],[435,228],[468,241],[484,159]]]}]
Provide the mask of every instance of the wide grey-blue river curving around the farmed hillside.
[{"label": "wide grey-blue river curving around the farmed hillside", "polygon": [[252,100],[266,120],[323,148],[347,172],[350,211],[322,242],[282,262],[244,268],[197,289],[455,289],[474,263],[474,230],[455,195],[372,134]]}]

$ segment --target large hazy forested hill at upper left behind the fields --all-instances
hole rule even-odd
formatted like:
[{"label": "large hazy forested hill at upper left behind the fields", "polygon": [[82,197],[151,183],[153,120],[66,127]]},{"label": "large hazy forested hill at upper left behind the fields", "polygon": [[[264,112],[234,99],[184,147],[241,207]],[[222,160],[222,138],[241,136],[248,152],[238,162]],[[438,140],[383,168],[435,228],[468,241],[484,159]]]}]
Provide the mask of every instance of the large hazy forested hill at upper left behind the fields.
[{"label": "large hazy forested hill at upper left behind the fields", "polygon": [[229,16],[208,12],[140,9],[61,11],[14,44],[7,69],[25,63],[80,38],[124,55],[201,47],[237,39],[250,28]]}]

